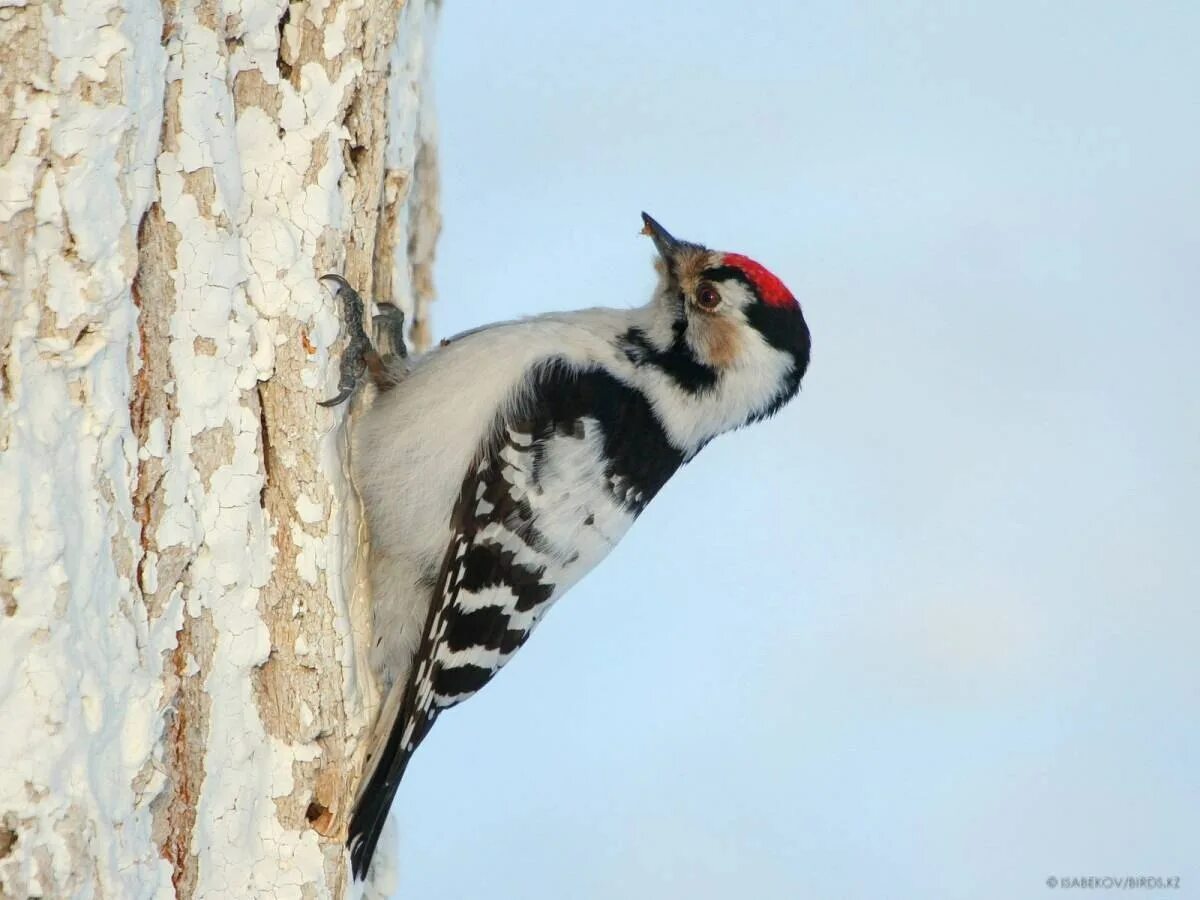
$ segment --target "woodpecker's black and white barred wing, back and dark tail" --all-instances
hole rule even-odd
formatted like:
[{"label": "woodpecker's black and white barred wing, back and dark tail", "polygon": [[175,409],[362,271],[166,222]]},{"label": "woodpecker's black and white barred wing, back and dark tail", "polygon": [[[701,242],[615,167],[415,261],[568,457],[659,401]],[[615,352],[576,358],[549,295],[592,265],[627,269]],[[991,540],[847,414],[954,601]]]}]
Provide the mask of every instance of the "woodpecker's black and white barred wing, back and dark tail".
[{"label": "woodpecker's black and white barred wing, back and dark tail", "polygon": [[350,821],[364,877],[413,751],[487,684],[684,462],[644,396],[604,370],[540,367],[463,479],[421,648]]}]

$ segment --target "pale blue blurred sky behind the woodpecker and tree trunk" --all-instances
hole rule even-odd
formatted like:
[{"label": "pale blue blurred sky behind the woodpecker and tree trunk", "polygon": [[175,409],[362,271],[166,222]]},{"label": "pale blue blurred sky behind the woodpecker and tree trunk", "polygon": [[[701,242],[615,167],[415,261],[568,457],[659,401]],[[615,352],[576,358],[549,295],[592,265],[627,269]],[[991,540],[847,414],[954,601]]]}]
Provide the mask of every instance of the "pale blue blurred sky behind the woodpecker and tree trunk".
[{"label": "pale blue blurred sky behind the woodpecker and tree trunk", "polygon": [[[971,8],[967,8],[971,7]],[[438,335],[648,210],[814,361],[400,790],[421,900],[1200,898],[1200,6],[445,5]]]}]

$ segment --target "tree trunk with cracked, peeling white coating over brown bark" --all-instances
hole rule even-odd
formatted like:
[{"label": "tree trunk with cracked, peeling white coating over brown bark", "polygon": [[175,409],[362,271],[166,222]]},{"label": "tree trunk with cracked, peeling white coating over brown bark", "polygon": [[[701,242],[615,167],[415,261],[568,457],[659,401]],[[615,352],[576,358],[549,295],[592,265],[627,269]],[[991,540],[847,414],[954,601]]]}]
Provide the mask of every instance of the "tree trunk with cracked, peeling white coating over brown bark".
[{"label": "tree trunk with cracked, peeling white coating over brown bark", "polygon": [[426,340],[433,6],[0,0],[0,898],[349,889],[376,697],[317,277]]}]

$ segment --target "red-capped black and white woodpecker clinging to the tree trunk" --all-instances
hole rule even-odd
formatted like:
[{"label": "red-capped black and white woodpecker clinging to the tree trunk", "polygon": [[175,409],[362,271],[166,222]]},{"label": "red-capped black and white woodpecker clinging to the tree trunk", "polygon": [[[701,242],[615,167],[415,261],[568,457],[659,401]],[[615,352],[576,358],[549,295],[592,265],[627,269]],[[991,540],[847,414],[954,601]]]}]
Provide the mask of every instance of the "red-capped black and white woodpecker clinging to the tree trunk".
[{"label": "red-capped black and white woodpecker clinging to the tree trunk", "polygon": [[491,680],[680,466],[799,389],[809,328],[784,283],[642,218],[659,254],[647,305],[486,325],[412,364],[395,307],[376,317],[394,348],[380,353],[330,276],[350,343],[325,404],[366,372],[377,388],[353,452],[384,697],[349,824],[355,878],[438,715]]}]

